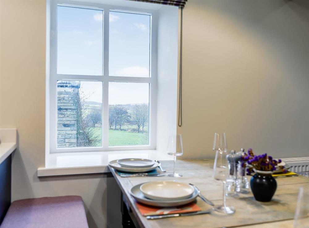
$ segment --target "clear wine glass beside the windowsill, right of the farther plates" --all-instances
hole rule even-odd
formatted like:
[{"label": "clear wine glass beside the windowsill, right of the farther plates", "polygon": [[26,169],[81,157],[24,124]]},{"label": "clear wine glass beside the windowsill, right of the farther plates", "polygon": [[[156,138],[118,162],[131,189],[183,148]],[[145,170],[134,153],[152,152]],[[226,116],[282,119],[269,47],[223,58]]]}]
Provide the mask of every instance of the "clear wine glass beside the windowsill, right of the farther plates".
[{"label": "clear wine glass beside the windowsill, right of the farther plates", "polygon": [[184,154],[181,135],[172,135],[168,138],[167,154],[174,156],[174,172],[168,173],[167,176],[182,176],[181,174],[175,172],[176,157]]}]

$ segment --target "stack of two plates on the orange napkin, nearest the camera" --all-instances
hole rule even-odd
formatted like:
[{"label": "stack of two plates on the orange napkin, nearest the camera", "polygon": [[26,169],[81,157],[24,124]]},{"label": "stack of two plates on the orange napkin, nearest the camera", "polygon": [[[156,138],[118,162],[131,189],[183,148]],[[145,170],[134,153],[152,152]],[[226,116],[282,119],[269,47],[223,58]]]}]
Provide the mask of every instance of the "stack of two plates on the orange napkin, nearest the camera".
[{"label": "stack of two plates on the orange napkin, nearest the camera", "polygon": [[174,181],[151,181],[135,185],[131,195],[140,203],[157,207],[175,207],[191,203],[197,190],[185,183]]}]

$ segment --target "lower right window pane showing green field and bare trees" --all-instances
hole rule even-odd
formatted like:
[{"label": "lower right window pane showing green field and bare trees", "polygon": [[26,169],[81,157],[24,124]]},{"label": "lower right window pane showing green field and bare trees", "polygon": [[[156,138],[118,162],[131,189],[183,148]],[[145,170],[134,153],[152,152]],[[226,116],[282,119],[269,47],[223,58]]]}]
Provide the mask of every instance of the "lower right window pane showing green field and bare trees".
[{"label": "lower right window pane showing green field and bare trees", "polygon": [[110,82],[108,99],[108,145],[149,145],[149,84]]}]

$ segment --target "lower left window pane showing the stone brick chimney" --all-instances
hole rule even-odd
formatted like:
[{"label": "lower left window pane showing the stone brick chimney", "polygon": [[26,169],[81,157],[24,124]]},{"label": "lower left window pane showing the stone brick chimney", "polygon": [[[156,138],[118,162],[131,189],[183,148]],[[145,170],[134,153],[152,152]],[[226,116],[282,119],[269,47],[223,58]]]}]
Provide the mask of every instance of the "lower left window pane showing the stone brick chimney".
[{"label": "lower left window pane showing the stone brick chimney", "polygon": [[57,81],[57,147],[102,146],[102,82]]}]

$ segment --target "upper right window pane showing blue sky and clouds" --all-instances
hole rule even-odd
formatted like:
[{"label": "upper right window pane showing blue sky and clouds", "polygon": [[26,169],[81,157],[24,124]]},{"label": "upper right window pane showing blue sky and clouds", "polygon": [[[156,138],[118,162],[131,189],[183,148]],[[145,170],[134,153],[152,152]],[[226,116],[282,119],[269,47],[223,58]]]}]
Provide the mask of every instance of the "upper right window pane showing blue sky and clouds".
[{"label": "upper right window pane showing blue sky and clouds", "polygon": [[149,77],[150,15],[109,12],[109,75]]}]

